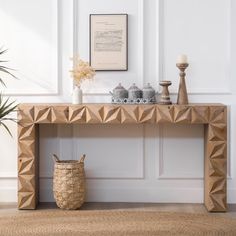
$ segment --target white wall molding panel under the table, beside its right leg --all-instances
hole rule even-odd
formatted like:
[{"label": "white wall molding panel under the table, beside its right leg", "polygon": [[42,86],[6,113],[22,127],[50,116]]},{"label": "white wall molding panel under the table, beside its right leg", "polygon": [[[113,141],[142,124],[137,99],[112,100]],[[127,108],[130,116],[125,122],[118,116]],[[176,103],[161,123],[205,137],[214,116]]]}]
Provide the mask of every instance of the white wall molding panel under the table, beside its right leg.
[{"label": "white wall molding panel under the table, beside its right leg", "polygon": [[[203,162],[202,157],[204,153],[204,143],[202,140],[199,140],[199,138],[203,139],[204,137],[203,125],[200,125],[198,129],[195,127],[192,127],[191,129],[194,129],[194,131],[190,130],[188,126],[182,126],[181,129],[177,128],[176,130],[176,127],[160,125],[159,132],[157,134],[159,137],[158,180],[203,179],[203,163],[201,164],[200,160]],[[180,133],[181,131],[183,132],[182,134]],[[173,135],[174,138],[170,137],[170,135]],[[176,139],[179,139],[179,141],[175,141]],[[195,139],[196,141],[193,143],[193,141],[189,141],[189,139]],[[188,151],[192,150],[195,145],[196,149],[202,150],[197,151],[197,155],[193,154],[194,152]],[[189,148],[186,148],[186,146]],[[168,149],[174,149],[175,151],[170,152]],[[187,153],[183,154],[182,150],[185,150],[184,153],[187,151]],[[191,156],[191,153],[193,156]],[[186,155],[187,158],[183,158],[183,155]],[[177,162],[176,159],[179,161]],[[194,165],[197,166],[199,172],[196,172],[196,170],[193,173],[192,171],[189,171],[193,169],[193,165],[189,163],[189,159],[195,163]],[[186,163],[184,163],[184,161]],[[174,169],[168,170],[170,165],[173,165]],[[179,166],[185,166],[185,169],[179,169]]]}]

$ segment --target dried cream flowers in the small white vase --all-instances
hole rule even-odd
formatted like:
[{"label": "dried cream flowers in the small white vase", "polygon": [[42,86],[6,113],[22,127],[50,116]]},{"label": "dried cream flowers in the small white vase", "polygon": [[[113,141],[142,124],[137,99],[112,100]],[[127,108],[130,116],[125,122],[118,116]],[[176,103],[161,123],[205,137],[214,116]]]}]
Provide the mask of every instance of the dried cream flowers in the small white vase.
[{"label": "dried cream flowers in the small white vase", "polygon": [[88,62],[83,61],[79,57],[73,59],[74,69],[71,70],[71,76],[74,79],[75,85],[80,87],[84,80],[93,79],[95,70],[89,65]]}]

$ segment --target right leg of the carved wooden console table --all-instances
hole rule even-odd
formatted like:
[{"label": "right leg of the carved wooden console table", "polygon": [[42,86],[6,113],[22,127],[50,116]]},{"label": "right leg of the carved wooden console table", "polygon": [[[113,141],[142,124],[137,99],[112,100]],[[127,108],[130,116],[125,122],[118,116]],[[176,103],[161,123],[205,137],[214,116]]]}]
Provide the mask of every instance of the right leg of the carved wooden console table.
[{"label": "right leg of the carved wooden console table", "polygon": [[211,212],[227,211],[227,109],[210,108],[205,126],[205,206]]}]

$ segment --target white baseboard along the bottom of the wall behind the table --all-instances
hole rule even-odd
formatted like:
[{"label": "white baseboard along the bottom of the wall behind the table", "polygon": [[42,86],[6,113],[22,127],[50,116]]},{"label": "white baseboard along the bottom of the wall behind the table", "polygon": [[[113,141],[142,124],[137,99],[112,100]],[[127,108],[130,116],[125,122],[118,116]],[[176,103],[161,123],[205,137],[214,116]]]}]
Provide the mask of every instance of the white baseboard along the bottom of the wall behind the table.
[{"label": "white baseboard along the bottom of the wall behind the table", "polygon": [[[52,189],[40,190],[41,202],[54,202]],[[87,189],[87,202],[203,203],[203,189]],[[236,189],[228,189],[229,204],[236,204]],[[0,202],[17,202],[17,188],[1,187]]]}]

